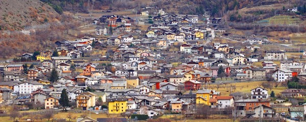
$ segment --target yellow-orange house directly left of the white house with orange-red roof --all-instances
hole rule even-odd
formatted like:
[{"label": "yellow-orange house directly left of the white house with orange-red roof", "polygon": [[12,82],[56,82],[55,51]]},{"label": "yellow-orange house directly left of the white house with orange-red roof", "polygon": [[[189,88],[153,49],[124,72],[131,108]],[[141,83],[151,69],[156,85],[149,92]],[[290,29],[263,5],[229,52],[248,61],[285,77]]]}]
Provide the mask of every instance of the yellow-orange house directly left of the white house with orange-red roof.
[{"label": "yellow-orange house directly left of the white house with orange-red roof", "polygon": [[196,104],[210,105],[209,100],[212,98],[213,94],[213,90],[198,90],[195,98]]}]

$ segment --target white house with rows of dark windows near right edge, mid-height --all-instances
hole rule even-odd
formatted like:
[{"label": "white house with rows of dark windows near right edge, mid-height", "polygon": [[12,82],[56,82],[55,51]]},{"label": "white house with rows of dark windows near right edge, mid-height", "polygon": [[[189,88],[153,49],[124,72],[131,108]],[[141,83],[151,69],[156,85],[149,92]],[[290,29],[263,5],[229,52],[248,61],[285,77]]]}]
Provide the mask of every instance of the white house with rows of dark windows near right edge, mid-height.
[{"label": "white house with rows of dark windows near right edge, mid-height", "polygon": [[292,78],[292,71],[287,70],[287,69],[277,69],[273,73],[274,80],[278,82],[282,82],[285,80],[289,80]]}]

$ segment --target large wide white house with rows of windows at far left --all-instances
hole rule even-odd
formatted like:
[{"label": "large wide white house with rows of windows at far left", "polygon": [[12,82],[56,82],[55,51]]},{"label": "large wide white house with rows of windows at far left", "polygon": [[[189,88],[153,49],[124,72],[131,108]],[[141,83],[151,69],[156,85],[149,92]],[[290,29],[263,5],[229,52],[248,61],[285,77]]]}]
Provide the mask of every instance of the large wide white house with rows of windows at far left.
[{"label": "large wide white house with rows of windows at far left", "polygon": [[37,81],[24,81],[14,85],[14,92],[19,94],[31,94],[32,91],[43,88],[43,84]]}]

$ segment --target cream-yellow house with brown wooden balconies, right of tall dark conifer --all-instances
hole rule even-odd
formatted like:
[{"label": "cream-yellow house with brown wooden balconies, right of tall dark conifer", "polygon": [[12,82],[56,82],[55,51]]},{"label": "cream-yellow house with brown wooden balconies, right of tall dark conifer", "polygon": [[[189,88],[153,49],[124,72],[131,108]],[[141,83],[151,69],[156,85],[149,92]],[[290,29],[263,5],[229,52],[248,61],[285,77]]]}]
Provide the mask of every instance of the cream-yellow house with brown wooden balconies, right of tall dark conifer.
[{"label": "cream-yellow house with brown wooden balconies, right of tall dark conifer", "polygon": [[83,108],[83,110],[87,110],[89,107],[95,106],[96,96],[96,94],[91,92],[84,92],[77,96],[77,108]]}]

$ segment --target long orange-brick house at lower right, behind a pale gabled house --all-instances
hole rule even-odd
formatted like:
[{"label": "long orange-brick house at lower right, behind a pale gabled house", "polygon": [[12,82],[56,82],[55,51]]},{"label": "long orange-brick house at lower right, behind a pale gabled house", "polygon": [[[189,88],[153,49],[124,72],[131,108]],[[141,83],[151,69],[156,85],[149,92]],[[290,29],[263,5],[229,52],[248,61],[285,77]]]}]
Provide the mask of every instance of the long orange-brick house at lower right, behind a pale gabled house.
[{"label": "long orange-brick house at lower right, behind a pale gabled house", "polygon": [[267,99],[243,99],[235,101],[236,116],[250,116],[255,113],[255,108],[260,105],[270,107]]}]

